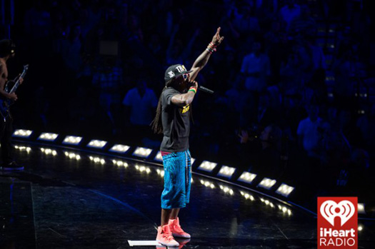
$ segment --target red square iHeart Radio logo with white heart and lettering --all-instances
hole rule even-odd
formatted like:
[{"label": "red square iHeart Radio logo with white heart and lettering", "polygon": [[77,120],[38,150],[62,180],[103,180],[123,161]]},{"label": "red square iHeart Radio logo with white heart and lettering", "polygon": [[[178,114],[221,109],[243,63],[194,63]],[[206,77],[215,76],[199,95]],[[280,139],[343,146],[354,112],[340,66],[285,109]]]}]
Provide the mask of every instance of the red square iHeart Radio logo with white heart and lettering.
[{"label": "red square iHeart Radio logo with white heart and lettering", "polygon": [[318,248],[358,248],[356,197],[318,197]]}]

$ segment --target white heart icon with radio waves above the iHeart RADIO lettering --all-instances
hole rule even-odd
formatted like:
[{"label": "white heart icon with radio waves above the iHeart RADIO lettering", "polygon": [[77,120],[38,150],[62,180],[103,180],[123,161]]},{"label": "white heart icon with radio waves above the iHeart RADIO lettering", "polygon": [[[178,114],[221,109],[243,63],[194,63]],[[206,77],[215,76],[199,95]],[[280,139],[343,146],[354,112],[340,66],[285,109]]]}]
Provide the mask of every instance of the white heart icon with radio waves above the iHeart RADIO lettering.
[{"label": "white heart icon with radio waves above the iHeart RADIO lettering", "polygon": [[321,215],[334,226],[334,218],[341,218],[343,226],[354,215],[356,208],[349,200],[342,200],[339,204],[333,200],[326,200],[320,206]]}]

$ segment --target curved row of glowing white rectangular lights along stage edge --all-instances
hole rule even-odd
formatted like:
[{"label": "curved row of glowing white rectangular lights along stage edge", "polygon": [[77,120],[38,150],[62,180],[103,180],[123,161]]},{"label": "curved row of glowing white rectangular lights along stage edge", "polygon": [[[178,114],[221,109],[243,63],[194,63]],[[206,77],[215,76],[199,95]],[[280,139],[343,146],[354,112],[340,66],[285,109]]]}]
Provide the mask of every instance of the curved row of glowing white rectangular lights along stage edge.
[{"label": "curved row of glowing white rectangular lights along stage edge", "polygon": [[[14,131],[13,136],[17,138],[30,138],[31,134],[33,131],[30,130],[22,130],[22,129],[17,129]],[[49,142],[54,142],[56,139],[59,137],[59,134],[57,133],[41,133],[40,136],[37,138],[39,141],[49,141]],[[64,140],[61,142],[65,145],[72,145],[72,146],[79,146],[81,141],[82,141],[81,136],[65,136]],[[86,147],[89,148],[97,148],[97,149],[104,149],[104,147],[107,145],[107,141],[102,141],[102,140],[91,140],[89,143],[86,144]],[[114,144],[111,148],[109,148],[109,151],[114,152],[114,153],[126,153],[130,149],[130,146],[126,145],[121,145],[121,144]],[[142,148],[142,147],[137,147],[135,148],[133,152],[133,156],[137,156],[140,158],[149,158],[149,156],[152,153],[151,148]],[[44,153],[53,153],[51,151],[44,151]],[[56,152],[55,152],[56,153]],[[78,156],[72,155],[69,153],[69,158],[76,158]],[[77,159],[79,160],[79,159]],[[92,157],[90,158],[91,161],[94,161],[94,163],[101,163],[104,164],[105,161],[102,158],[95,158]],[[154,161],[162,162],[163,158],[161,157],[160,151],[156,153],[156,156],[154,158]],[[194,158],[191,158],[191,165],[194,163]],[[209,162],[209,161],[203,161],[201,165],[198,167],[200,171],[205,171],[207,173],[212,173],[214,169],[218,166],[217,163]],[[236,168],[229,167],[229,166],[221,166],[219,172],[217,173],[217,176],[220,176],[222,178],[231,178],[234,173],[236,172]],[[236,179],[236,181],[240,181],[242,183],[248,183],[251,184],[254,182],[254,179],[256,179],[257,175],[255,173],[250,173],[250,172],[243,172],[239,178]],[[271,188],[276,184],[276,180],[270,179],[270,178],[263,178],[260,183],[257,185],[259,188],[264,188],[266,190],[271,190]],[[283,195],[284,197],[288,197],[291,192],[294,190],[294,187],[288,186],[285,183],[282,183],[279,188],[277,188],[276,193],[279,195]]]}]

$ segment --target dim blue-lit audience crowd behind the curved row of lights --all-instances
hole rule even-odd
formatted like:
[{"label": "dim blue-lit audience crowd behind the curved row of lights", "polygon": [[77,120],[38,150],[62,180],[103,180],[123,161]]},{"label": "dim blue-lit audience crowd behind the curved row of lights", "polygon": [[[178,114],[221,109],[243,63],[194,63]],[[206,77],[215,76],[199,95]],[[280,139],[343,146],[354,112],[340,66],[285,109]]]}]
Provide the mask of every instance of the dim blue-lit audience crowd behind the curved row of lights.
[{"label": "dim blue-lit audience crowd behind the curved row of lights", "polygon": [[14,68],[27,62],[30,69],[16,125],[158,148],[149,123],[164,70],[189,68],[221,26],[225,40],[197,78],[215,93],[194,100],[193,157],[339,193],[360,181],[358,172],[374,181],[374,22],[367,5],[23,3],[12,31]]}]

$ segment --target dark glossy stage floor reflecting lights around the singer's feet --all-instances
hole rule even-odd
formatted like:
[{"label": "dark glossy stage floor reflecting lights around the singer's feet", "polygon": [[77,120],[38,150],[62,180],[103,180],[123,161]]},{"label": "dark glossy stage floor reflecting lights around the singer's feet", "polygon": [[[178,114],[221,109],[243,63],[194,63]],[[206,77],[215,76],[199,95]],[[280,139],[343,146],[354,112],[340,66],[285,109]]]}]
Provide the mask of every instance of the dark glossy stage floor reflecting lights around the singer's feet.
[{"label": "dark glossy stage floor reflecting lights around the singer's feet", "polygon": [[[128,240],[155,240],[161,167],[46,148],[18,147],[25,171],[0,173],[0,248],[130,248]],[[221,181],[193,180],[180,214],[192,235],[184,248],[316,248],[314,215]],[[374,222],[359,223],[359,248],[374,248]]]}]

